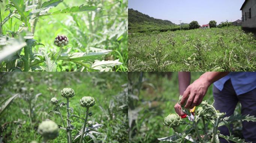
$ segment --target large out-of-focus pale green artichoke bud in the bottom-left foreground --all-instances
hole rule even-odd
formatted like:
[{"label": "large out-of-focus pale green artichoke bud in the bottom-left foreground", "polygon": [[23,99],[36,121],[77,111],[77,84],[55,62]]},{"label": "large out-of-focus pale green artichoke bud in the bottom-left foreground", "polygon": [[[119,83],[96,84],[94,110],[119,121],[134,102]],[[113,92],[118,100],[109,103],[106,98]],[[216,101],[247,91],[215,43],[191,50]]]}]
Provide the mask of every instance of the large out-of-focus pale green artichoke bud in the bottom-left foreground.
[{"label": "large out-of-focus pale green artichoke bud in the bottom-left foreground", "polygon": [[59,135],[58,125],[51,120],[43,121],[37,131],[45,140],[53,140]]}]

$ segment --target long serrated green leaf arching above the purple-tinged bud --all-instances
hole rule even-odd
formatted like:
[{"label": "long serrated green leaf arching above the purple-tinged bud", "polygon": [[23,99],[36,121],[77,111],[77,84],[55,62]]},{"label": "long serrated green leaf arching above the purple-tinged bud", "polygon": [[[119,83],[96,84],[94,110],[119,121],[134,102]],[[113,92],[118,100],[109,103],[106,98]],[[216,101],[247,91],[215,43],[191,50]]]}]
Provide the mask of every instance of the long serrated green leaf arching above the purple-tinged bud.
[{"label": "long serrated green leaf arching above the purple-tinged bud", "polygon": [[70,14],[70,13],[76,13],[76,12],[85,12],[85,11],[100,11],[101,9],[98,8],[97,6],[73,6],[73,7],[68,7],[62,10],[58,10],[52,13],[45,13],[43,15],[40,15],[40,17],[42,16],[49,16],[49,15],[63,15],[63,14]]}]

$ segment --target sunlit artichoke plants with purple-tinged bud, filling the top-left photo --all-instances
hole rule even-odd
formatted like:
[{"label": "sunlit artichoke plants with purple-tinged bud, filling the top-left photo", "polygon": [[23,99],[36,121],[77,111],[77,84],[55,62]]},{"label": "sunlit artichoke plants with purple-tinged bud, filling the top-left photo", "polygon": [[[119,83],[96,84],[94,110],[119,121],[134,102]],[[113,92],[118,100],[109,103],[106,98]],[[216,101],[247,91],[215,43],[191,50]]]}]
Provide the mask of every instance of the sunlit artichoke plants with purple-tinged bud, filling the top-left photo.
[{"label": "sunlit artichoke plants with purple-tinged bud, filling the top-left photo", "polygon": [[128,0],[0,0],[0,71],[127,71]]}]

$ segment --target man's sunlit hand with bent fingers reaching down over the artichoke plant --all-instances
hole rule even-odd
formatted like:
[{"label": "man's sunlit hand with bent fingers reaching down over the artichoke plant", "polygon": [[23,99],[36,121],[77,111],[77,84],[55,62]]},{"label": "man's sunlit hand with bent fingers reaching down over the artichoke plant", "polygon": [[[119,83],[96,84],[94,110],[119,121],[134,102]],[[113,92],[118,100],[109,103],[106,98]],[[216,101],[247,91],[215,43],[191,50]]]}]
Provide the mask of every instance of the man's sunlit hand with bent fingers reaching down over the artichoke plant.
[{"label": "man's sunlit hand with bent fingers reaching down over the artichoke plant", "polygon": [[188,99],[185,108],[191,109],[198,106],[201,104],[202,99],[204,98],[204,95],[210,85],[211,83],[204,77],[200,77],[199,79],[195,80],[184,91],[180,104],[185,104],[186,99]]}]

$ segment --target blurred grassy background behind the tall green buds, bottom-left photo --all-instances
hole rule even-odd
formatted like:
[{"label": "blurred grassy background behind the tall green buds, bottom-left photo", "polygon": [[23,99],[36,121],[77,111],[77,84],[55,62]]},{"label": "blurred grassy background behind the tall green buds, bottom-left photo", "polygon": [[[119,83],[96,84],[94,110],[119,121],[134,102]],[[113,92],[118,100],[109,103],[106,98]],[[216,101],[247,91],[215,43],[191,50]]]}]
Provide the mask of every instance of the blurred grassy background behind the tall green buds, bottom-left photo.
[{"label": "blurred grassy background behind the tall green buds, bottom-left photo", "polygon": [[[16,80],[24,80],[25,83],[17,85]],[[92,96],[96,104],[90,108],[91,120],[104,126],[98,131],[103,134],[94,134],[99,143],[125,143],[128,142],[128,117],[127,117],[127,73],[0,73],[0,103],[7,97],[19,93],[12,104],[3,112],[0,112],[0,140],[4,143],[30,143],[32,140],[42,141],[37,133],[38,125],[50,119],[58,125],[62,125],[61,118],[57,114],[49,113],[54,109],[50,103],[52,97],[57,97],[60,102],[66,102],[60,94],[61,89],[73,88],[76,95],[70,99],[70,107],[73,114],[84,117],[85,108],[79,105],[79,99],[83,96]],[[25,90],[34,88],[33,101],[29,102]],[[31,92],[30,92],[31,93]],[[34,98],[35,95],[38,98]],[[35,102],[34,102],[35,101]],[[31,103],[31,104],[29,104]],[[33,104],[34,103],[34,104]],[[3,105],[3,104],[1,104]],[[31,107],[31,108],[30,108]],[[31,109],[31,116],[29,111]],[[65,106],[61,108],[63,118],[67,112]],[[30,120],[31,117],[31,120]],[[71,118],[75,130],[74,136],[82,128],[83,120]],[[73,143],[79,142],[79,139]],[[65,130],[60,130],[60,135],[49,143],[67,142]],[[85,137],[86,143],[93,143],[89,136]]]}]

